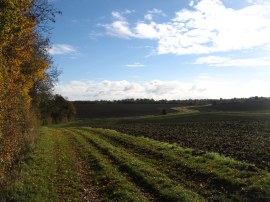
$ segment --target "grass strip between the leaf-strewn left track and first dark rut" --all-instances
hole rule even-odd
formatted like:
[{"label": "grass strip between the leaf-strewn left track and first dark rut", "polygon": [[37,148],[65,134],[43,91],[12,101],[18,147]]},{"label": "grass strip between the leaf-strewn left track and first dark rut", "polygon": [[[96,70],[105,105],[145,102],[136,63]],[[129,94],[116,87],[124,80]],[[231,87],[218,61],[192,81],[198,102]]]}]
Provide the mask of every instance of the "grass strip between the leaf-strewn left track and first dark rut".
[{"label": "grass strip between the leaf-strewn left track and first dark rut", "polygon": [[90,164],[93,172],[90,177],[104,192],[104,199],[115,201],[147,201],[139,190],[123,176],[108,158],[76,133],[72,133],[82,157]]}]

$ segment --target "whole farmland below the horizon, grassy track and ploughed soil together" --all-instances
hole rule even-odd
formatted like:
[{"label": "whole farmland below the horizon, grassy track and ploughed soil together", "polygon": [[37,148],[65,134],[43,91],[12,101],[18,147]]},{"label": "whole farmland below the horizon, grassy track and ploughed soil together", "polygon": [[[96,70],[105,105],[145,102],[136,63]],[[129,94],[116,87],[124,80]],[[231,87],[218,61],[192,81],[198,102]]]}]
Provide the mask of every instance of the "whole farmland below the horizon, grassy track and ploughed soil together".
[{"label": "whole farmland below the horizon, grassy track and ploughed soil together", "polygon": [[266,110],[94,106],[91,119],[42,127],[8,201],[269,201]]}]

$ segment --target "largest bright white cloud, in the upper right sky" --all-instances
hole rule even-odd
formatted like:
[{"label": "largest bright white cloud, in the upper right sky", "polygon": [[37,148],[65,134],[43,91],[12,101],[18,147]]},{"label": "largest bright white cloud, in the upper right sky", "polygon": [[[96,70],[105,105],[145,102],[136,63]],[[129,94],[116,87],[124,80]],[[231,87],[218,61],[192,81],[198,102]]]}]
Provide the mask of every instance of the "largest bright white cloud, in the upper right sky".
[{"label": "largest bright white cloud, in the upper right sky", "polygon": [[153,19],[153,10],[145,15],[147,22],[129,23],[116,16],[105,25],[107,33],[120,38],[157,41],[157,54],[209,54],[233,50],[264,48],[270,45],[270,4],[249,4],[242,9],[227,8],[221,0],[191,1],[168,22]]}]

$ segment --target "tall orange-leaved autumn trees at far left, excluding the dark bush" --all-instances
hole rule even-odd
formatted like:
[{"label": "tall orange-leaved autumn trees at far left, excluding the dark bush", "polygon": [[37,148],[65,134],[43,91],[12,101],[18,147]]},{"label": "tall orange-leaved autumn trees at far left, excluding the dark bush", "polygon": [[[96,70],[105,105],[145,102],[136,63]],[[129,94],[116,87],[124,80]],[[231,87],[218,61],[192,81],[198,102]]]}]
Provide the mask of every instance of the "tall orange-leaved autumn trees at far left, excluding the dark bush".
[{"label": "tall orange-leaved autumn trees at far left, excluding the dark bush", "polygon": [[30,92],[47,80],[45,33],[56,13],[47,0],[0,1],[0,186],[30,137]]}]

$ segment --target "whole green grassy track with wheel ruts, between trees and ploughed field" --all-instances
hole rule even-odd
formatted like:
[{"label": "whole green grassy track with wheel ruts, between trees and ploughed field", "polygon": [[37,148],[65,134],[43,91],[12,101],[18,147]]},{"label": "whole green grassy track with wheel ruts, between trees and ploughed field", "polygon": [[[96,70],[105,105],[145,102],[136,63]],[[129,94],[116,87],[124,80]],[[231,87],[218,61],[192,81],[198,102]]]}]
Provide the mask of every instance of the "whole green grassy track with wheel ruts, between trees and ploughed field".
[{"label": "whole green grassy track with wheel ruts, between trees and ploughed field", "polygon": [[270,173],[109,129],[44,127],[10,193],[15,201],[269,201]]}]

